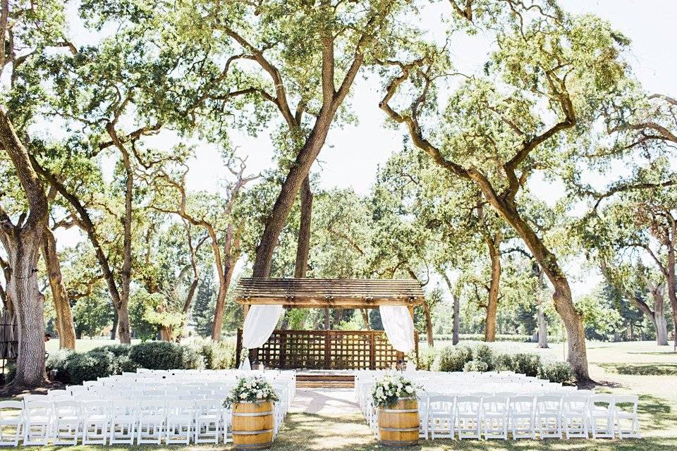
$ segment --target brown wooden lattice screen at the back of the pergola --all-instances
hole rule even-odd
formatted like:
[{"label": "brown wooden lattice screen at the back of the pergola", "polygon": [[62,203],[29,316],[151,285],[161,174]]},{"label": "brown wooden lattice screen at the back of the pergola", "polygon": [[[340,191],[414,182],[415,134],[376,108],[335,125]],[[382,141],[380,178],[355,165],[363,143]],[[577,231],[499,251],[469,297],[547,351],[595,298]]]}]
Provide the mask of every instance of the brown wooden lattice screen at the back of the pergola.
[{"label": "brown wooden lattice screen at the back of the pergola", "polygon": [[[241,350],[239,329],[237,356]],[[277,369],[386,369],[404,358],[383,330],[274,330],[262,347],[250,352],[255,353],[250,359]]]}]

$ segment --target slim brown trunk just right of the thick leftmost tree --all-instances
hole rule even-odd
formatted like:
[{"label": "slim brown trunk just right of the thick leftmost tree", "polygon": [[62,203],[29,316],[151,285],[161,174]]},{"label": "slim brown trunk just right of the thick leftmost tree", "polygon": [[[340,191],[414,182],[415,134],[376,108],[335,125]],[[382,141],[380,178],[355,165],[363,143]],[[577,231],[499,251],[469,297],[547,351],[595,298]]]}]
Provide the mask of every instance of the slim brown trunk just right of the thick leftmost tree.
[{"label": "slim brown trunk just right of the thick leftmost tree", "polygon": [[61,263],[56,254],[56,240],[54,233],[49,228],[44,231],[44,245],[42,247],[47,276],[51,288],[51,297],[54,299],[54,311],[56,311],[56,330],[59,332],[59,347],[61,349],[75,349],[75,326],[73,326],[73,313],[71,304],[68,302],[66,285],[61,276]]}]

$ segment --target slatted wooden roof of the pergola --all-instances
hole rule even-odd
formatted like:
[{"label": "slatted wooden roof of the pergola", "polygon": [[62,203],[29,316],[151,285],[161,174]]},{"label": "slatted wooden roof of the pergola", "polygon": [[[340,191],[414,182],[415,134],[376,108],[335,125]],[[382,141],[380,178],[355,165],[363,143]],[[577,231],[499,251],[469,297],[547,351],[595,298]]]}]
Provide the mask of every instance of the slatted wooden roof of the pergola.
[{"label": "slatted wooden roof of the pergola", "polygon": [[413,279],[241,278],[240,304],[279,304],[293,308],[375,309],[382,305],[413,307],[425,295]]}]

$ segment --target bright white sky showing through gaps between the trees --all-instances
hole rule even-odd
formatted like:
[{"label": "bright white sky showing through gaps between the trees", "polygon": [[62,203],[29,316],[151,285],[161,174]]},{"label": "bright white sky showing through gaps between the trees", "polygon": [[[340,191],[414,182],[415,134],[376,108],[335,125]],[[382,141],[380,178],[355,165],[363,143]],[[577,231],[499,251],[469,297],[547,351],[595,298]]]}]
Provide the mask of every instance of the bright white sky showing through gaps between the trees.
[{"label": "bright white sky showing through gaps between the trees", "polygon": [[[673,85],[677,75],[677,59],[674,58],[674,43],[677,42],[677,1],[675,0],[561,0],[560,4],[571,12],[594,13],[611,22],[616,29],[632,39],[630,62],[635,74],[651,92],[677,95]],[[429,23],[435,34],[444,32],[439,24],[439,8],[448,8],[441,2],[427,8],[423,21]],[[77,19],[76,19],[77,20]],[[80,34],[82,30],[73,30]],[[81,37],[84,37],[81,35]],[[486,58],[490,42],[481,36],[463,38],[453,42],[458,69],[468,72],[477,68]],[[331,130],[327,145],[312,169],[320,175],[320,186],[353,187],[360,194],[368,194],[376,174],[392,152],[401,149],[403,130],[384,127],[384,113],[378,103],[382,93],[378,80],[358,78],[352,90],[353,111],[359,118],[358,125],[346,125]],[[154,138],[152,145],[171,147],[171,134]],[[257,138],[241,133],[233,134],[233,144],[248,155],[248,167],[255,173],[270,168],[273,150],[265,134]],[[223,165],[214,147],[198,147],[199,157],[191,165],[188,185],[191,190],[218,190],[224,175]],[[561,187],[551,183],[532,181],[532,191],[541,194],[549,204],[561,196]],[[71,232],[72,233],[72,232]],[[61,242],[73,242],[75,236],[63,235]],[[587,276],[574,277],[574,291],[583,294],[594,283]]]}]

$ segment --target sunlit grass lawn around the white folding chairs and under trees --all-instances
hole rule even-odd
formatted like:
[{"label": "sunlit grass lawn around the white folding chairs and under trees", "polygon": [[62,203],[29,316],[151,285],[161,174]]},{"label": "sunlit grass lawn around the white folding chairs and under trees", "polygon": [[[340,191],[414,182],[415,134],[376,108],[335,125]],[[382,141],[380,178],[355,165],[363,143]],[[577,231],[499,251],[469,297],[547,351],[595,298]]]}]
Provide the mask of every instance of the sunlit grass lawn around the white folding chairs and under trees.
[{"label": "sunlit grass lawn around the white folding chairs and under trees", "polygon": [[[91,347],[107,340],[83,340],[96,342]],[[108,341],[109,342],[109,341]],[[49,343],[51,345],[51,343]],[[87,343],[90,345],[90,343]],[[86,345],[78,347],[85,349]],[[506,350],[535,351],[532,343],[499,342],[496,347]],[[672,347],[658,347],[654,342],[588,343],[588,359],[592,378],[599,383],[596,390],[605,393],[635,393],[640,396],[641,440],[517,440],[504,442],[492,440],[435,440],[422,441],[410,450],[677,450],[677,375],[635,376],[622,374],[628,371],[653,371],[654,368],[677,367],[677,354]],[[549,350],[537,350],[544,357],[562,358],[561,343]],[[630,368],[630,370],[628,370]],[[639,370],[637,370],[639,368]],[[28,448],[27,448],[28,449]],[[33,448],[37,449],[37,448]],[[44,450],[224,450],[230,445],[161,445],[161,446],[115,446],[115,447],[43,447]],[[370,435],[360,414],[343,416],[319,414],[289,414],[273,445],[274,450],[378,450],[381,449]]]}]

